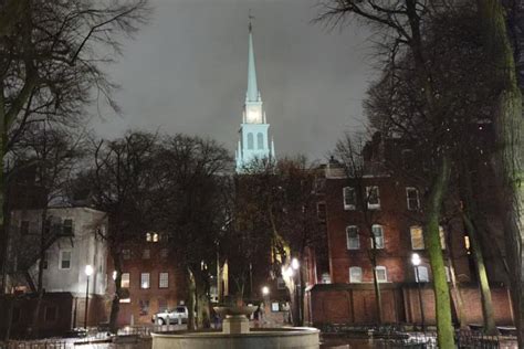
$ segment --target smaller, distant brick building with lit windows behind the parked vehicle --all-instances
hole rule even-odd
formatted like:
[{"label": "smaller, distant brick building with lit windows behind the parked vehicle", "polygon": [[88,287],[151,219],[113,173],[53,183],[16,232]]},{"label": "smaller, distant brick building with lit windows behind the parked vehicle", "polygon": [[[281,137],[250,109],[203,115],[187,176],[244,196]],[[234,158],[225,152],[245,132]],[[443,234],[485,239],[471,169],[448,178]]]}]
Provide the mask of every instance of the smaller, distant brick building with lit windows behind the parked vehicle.
[{"label": "smaller, distant brick building with lit windows behind the parked vehicle", "polygon": [[[127,297],[120,299],[118,326],[150,324],[151,316],[186,302],[185,274],[177,257],[167,246],[167,234],[148,232],[143,241],[128,243],[122,250],[122,287]],[[108,269],[113,261],[108,256]],[[115,285],[107,287],[107,307]]]}]

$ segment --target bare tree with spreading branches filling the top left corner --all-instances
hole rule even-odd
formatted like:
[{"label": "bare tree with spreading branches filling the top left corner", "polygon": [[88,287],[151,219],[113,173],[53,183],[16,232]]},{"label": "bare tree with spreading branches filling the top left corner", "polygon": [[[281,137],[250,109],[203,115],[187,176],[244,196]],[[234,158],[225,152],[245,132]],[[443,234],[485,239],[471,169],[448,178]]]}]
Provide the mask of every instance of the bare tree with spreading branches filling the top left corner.
[{"label": "bare tree with spreading branches filling the top left corner", "polygon": [[[112,98],[116,85],[103,66],[120,53],[123,35],[135,33],[148,13],[147,0],[1,1],[0,158],[35,121],[77,125],[84,107],[98,99],[117,109]],[[7,179],[1,163],[3,207]],[[2,213],[2,226],[3,219]],[[7,244],[8,232],[2,232]],[[2,269],[3,260],[4,254]]]}]

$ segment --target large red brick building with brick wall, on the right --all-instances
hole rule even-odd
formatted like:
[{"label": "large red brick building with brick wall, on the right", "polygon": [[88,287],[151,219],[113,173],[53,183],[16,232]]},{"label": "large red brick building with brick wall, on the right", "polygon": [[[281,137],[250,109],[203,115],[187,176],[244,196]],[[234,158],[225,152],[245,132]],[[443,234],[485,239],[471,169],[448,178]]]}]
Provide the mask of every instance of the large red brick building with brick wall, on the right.
[{"label": "large red brick building with brick wall, on the right", "polygon": [[[319,277],[310,279],[312,285],[306,294],[306,320],[313,325],[371,324],[377,320],[369,257],[374,234],[382,320],[421,321],[419,282],[426,322],[434,322],[432,275],[423,241],[422,193],[417,186],[373,163],[369,163],[369,171],[365,176],[348,178],[336,161],[325,167],[324,176],[318,181],[319,215],[325,218],[326,223],[329,277],[324,277],[324,283]],[[467,306],[468,320],[482,324],[474,264],[460,215],[450,215],[443,220],[441,245],[450,285],[454,275]],[[418,267],[418,279],[411,264],[413,253],[418,253],[422,261]],[[486,253],[486,265],[496,321],[499,325],[512,324],[500,251]],[[454,273],[451,273],[453,269]],[[317,267],[315,272],[318,272]],[[457,311],[453,293],[452,298],[453,311]]]}]

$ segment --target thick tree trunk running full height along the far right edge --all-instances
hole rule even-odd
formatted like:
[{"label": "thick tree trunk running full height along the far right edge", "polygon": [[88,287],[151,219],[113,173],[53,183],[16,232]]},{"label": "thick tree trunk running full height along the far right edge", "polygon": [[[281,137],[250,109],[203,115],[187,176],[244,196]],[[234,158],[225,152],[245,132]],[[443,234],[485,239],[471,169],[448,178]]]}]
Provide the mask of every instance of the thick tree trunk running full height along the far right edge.
[{"label": "thick tree trunk running full height along the far right edge", "polygon": [[518,346],[524,347],[524,131],[522,94],[516,77],[513,47],[506,28],[506,13],[500,0],[478,0],[480,24],[495,82],[500,86],[499,110],[494,118],[499,182],[502,186],[506,254],[512,274],[511,294]]}]

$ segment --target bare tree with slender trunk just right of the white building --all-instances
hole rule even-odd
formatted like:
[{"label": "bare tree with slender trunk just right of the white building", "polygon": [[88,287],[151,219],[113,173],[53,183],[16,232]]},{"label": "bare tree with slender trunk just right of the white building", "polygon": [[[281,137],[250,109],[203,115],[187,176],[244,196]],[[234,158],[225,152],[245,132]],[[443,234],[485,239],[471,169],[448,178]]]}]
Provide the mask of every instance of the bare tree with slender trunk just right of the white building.
[{"label": "bare tree with slender trunk just right of the white building", "polygon": [[153,228],[156,141],[156,135],[145,133],[128,133],[112,141],[94,141],[91,149],[93,169],[84,172],[76,183],[76,190],[91,192],[94,207],[108,215],[109,229],[98,233],[107,242],[116,272],[109,316],[109,328],[114,332],[119,302],[126,292],[122,288],[123,246],[142,240]]}]

